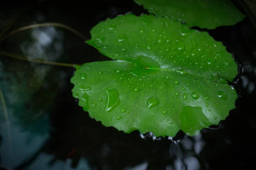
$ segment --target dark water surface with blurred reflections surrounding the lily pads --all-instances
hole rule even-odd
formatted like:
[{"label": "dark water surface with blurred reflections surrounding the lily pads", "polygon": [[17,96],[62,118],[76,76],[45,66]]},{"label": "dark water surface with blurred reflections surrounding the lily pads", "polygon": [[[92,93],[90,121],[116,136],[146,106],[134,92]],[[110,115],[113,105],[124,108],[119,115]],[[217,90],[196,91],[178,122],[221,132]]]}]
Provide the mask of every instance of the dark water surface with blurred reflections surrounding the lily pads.
[{"label": "dark water surface with blurred reflections surrounding the lily pads", "polygon": [[[9,32],[36,23],[62,23],[79,31],[87,40],[90,29],[108,17],[130,11],[136,15],[147,14],[132,0],[10,1],[0,7],[1,23],[9,23],[23,8],[26,10]],[[0,34],[5,28],[0,25]],[[0,54],[0,166],[20,170],[253,168],[256,30],[246,17],[236,26],[202,31],[209,31],[215,40],[224,42],[239,62],[241,77],[236,78],[237,84],[233,85],[240,97],[236,100],[236,109],[221,121],[220,128],[203,129],[194,137],[180,132],[176,139],[182,140],[178,143],[167,138],[142,139],[138,131],[125,134],[91,119],[72,96],[70,78],[74,68]],[[62,63],[110,60],[73,32],[52,26],[17,32],[0,42],[0,51]],[[9,124],[4,111],[8,112]]]}]

